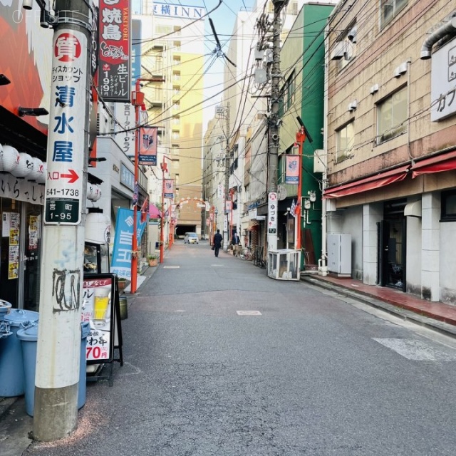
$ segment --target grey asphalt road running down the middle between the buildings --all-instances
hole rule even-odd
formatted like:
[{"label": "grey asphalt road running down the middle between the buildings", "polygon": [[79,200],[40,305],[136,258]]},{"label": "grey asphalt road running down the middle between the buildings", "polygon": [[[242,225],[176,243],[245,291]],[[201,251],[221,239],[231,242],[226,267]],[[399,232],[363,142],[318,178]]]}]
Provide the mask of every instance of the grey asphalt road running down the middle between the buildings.
[{"label": "grey asphalt road running down the middle between the buildings", "polygon": [[78,430],[24,455],[456,454],[454,348],[207,243],[167,252],[123,338]]}]

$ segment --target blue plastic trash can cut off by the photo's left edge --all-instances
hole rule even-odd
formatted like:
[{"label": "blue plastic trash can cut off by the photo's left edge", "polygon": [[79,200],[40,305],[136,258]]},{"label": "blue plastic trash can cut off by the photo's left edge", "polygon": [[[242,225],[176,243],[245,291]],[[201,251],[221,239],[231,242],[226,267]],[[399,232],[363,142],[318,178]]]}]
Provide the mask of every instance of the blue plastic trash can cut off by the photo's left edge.
[{"label": "blue plastic trash can cut off by the photo's left edge", "polygon": [[11,309],[4,316],[9,324],[11,336],[2,339],[0,351],[0,397],[12,398],[25,392],[24,363],[22,361],[21,341],[16,337],[19,329],[38,321],[38,312]]}]

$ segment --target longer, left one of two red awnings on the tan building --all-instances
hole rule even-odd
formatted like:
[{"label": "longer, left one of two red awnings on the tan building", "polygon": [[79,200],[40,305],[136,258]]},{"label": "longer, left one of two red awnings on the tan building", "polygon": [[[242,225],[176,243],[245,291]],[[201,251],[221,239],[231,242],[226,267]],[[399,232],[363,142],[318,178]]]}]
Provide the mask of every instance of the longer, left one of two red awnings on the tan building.
[{"label": "longer, left one of two red awnings on the tan building", "polygon": [[405,179],[409,167],[410,165],[404,165],[394,170],[380,172],[380,174],[375,176],[365,177],[364,179],[349,182],[348,184],[338,185],[338,187],[328,188],[323,193],[323,198],[346,197],[347,195],[385,187],[385,185],[393,184],[393,182],[400,182]]}]

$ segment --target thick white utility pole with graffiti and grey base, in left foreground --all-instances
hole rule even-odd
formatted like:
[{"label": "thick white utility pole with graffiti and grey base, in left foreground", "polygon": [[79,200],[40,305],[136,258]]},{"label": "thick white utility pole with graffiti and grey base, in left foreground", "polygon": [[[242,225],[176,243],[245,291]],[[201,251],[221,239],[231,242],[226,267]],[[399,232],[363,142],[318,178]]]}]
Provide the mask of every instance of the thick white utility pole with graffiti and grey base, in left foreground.
[{"label": "thick white utility pole with graffiti and grey base, in left foreground", "polygon": [[33,438],[51,441],[78,426],[92,12],[56,0],[50,16],[37,3],[54,31]]}]

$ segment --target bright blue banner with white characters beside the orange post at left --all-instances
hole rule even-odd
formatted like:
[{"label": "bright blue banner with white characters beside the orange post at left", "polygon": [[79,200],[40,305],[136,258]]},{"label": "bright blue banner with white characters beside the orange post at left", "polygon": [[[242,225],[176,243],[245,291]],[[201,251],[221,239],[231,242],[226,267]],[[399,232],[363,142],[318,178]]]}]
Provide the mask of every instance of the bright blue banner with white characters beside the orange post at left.
[{"label": "bright blue banner with white characters beside the orange post at left", "polygon": [[[141,212],[136,214],[136,226],[138,227],[136,236],[138,244],[144,233],[145,227],[149,222],[149,215],[145,222],[141,222]],[[119,277],[131,280],[131,254],[133,251],[133,210],[118,209],[117,220],[115,222],[115,235],[113,247],[113,259],[110,271]]]}]

